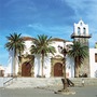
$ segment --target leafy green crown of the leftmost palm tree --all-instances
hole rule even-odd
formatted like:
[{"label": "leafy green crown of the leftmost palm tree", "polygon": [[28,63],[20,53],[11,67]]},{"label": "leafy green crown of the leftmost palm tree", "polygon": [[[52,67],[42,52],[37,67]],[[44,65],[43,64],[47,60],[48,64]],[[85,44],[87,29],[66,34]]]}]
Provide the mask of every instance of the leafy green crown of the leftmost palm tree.
[{"label": "leafy green crown of the leftmost palm tree", "polygon": [[20,34],[22,33],[17,34],[16,32],[14,32],[13,34],[10,33],[10,36],[6,37],[8,42],[5,43],[4,47],[8,51],[14,50],[14,55],[20,53],[25,48],[25,44]]}]

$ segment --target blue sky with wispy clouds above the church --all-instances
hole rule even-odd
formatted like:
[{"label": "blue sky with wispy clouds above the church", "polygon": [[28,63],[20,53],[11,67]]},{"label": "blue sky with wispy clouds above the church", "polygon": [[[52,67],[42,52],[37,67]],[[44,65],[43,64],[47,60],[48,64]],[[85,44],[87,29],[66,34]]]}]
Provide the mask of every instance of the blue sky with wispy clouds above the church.
[{"label": "blue sky with wispy clouds above the church", "polygon": [[89,46],[97,41],[97,0],[0,0],[0,65],[8,66],[4,48],[13,32],[36,38],[47,34],[70,40],[73,24],[88,24]]}]

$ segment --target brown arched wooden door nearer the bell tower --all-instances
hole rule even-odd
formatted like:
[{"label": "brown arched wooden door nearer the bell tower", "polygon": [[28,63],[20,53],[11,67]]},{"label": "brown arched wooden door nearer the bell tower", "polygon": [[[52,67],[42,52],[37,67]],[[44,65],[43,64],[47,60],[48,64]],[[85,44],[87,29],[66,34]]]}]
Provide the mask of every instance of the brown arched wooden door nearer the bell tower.
[{"label": "brown arched wooden door nearer the bell tower", "polygon": [[54,65],[54,77],[63,77],[63,64],[56,63]]}]

